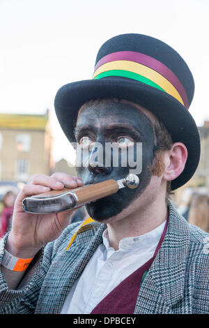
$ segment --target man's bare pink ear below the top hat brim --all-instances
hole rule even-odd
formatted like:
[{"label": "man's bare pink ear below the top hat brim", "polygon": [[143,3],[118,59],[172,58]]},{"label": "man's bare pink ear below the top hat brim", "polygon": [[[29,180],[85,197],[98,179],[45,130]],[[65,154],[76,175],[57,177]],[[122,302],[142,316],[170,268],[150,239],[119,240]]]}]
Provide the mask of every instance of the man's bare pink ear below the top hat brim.
[{"label": "man's bare pink ear below the top hat brim", "polygon": [[175,142],[171,149],[165,152],[164,180],[171,181],[176,179],[183,172],[187,156],[187,147],[182,142]]}]

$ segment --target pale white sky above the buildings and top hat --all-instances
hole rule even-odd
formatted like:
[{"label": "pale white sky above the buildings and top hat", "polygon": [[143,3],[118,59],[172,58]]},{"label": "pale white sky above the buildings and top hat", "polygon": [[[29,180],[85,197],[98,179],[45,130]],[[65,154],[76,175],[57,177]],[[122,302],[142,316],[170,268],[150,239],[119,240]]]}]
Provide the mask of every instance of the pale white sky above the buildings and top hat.
[{"label": "pale white sky above the buildings and top hat", "polygon": [[209,119],[209,0],[0,0],[0,112],[52,112],[54,160],[74,157],[54,113],[56,91],[91,79],[96,54],[121,33],[168,43],[194,75],[189,111]]}]

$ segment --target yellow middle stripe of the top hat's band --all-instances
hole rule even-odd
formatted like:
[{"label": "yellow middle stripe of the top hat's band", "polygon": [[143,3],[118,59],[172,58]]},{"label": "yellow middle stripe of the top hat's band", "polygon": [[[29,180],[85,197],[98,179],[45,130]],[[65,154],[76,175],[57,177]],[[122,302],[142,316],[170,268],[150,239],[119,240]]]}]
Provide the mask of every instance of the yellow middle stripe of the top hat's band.
[{"label": "yellow middle stripe of the top hat's band", "polygon": [[181,98],[176,88],[173,87],[173,84],[171,84],[171,82],[169,82],[164,76],[162,76],[160,73],[157,73],[156,70],[153,70],[152,68],[144,66],[143,64],[136,63],[134,61],[110,61],[109,63],[106,63],[95,70],[92,78],[94,79],[100,73],[106,72],[108,70],[128,70],[130,72],[142,75],[155,82],[157,85],[159,85],[159,87],[164,89],[167,94],[170,94],[184,105],[183,99]]}]

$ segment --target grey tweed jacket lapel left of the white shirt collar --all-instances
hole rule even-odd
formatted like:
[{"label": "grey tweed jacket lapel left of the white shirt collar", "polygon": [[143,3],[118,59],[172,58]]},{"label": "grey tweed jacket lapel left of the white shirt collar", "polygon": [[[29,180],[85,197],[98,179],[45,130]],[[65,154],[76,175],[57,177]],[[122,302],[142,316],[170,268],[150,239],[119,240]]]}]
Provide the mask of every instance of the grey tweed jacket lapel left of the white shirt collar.
[{"label": "grey tweed jacket lapel left of the white shirt collar", "polygon": [[56,254],[47,273],[47,279],[42,285],[36,313],[61,313],[72,285],[101,244],[102,232],[105,228],[105,225],[100,223],[91,223],[88,228],[85,227],[84,233],[77,234],[68,251],[60,251]]}]

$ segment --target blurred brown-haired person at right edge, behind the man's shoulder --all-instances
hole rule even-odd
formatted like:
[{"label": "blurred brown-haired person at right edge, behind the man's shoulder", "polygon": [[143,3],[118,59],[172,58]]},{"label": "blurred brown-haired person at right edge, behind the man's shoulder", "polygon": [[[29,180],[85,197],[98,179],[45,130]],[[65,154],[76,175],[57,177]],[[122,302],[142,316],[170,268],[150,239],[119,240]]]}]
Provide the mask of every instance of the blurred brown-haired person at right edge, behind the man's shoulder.
[{"label": "blurred brown-haired person at right edge, behind the man's shoulder", "polygon": [[209,232],[209,196],[194,195],[189,208],[188,222]]}]

